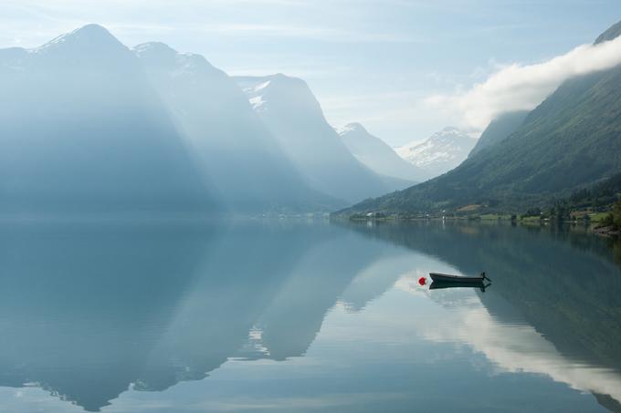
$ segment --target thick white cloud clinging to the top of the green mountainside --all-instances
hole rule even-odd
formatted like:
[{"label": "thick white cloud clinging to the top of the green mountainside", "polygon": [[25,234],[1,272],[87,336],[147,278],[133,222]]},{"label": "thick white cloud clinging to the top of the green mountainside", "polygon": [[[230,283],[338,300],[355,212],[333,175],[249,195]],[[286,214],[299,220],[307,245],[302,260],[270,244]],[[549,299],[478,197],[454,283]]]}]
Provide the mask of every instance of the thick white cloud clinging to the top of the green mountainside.
[{"label": "thick white cloud clinging to the top of the green mountainside", "polygon": [[485,129],[491,119],[511,110],[532,109],[564,80],[621,64],[621,37],[600,45],[583,45],[534,65],[500,67],[484,81],[453,95],[435,95],[426,103],[458,112],[463,126]]}]

